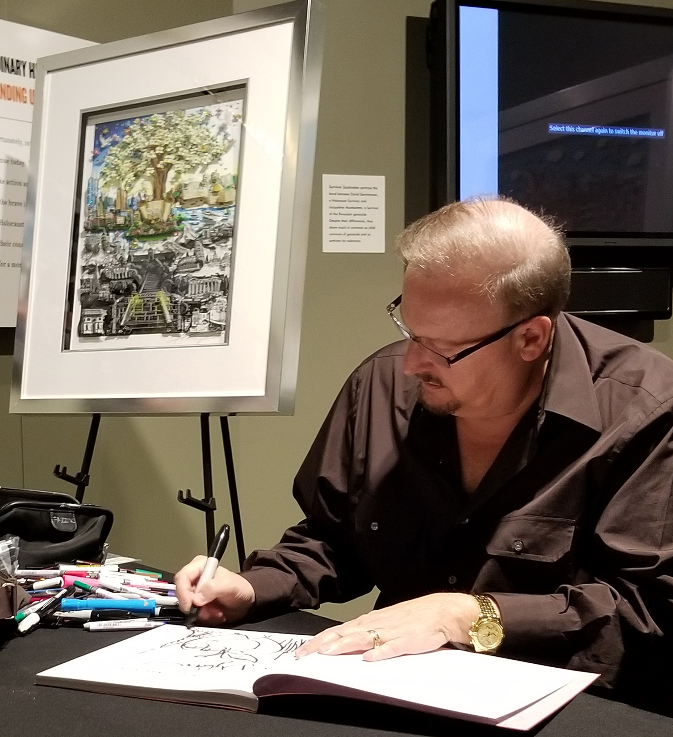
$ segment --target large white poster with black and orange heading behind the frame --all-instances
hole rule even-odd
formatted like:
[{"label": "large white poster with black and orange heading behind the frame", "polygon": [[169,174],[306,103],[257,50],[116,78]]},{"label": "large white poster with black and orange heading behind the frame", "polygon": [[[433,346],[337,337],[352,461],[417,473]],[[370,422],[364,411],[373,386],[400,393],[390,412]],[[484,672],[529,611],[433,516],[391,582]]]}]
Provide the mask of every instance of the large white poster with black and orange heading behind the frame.
[{"label": "large white poster with black and orange heading behind the frame", "polygon": [[0,21],[0,327],[16,325],[35,62],[92,43]]}]

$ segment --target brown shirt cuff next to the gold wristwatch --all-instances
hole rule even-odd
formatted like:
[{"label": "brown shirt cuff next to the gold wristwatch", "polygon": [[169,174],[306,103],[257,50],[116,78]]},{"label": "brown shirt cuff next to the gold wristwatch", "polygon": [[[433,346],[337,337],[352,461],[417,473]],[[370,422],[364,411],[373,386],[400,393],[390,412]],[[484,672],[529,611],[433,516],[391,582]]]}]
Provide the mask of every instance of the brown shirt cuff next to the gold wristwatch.
[{"label": "brown shirt cuff next to the gold wristwatch", "polygon": [[500,609],[507,649],[529,648],[536,641],[563,639],[580,628],[577,612],[563,594],[488,593]]}]

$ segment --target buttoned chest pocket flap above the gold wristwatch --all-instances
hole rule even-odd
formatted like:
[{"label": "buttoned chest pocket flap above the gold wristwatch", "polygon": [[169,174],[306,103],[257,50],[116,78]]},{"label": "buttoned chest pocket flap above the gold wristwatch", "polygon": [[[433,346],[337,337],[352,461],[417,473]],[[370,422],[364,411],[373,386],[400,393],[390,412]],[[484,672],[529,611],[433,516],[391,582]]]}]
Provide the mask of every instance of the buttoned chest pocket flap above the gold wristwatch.
[{"label": "buttoned chest pocket flap above the gold wristwatch", "polygon": [[487,542],[489,556],[538,563],[557,563],[571,551],[574,520],[518,514],[503,517]]}]

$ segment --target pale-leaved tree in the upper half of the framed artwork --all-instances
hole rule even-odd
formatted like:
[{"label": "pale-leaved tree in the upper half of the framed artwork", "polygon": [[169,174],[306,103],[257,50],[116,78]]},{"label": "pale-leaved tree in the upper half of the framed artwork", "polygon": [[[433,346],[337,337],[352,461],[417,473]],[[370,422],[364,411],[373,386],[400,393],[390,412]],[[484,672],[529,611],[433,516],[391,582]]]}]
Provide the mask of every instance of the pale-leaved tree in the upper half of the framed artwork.
[{"label": "pale-leaved tree in the upper half of the framed artwork", "polygon": [[119,144],[110,148],[100,170],[100,184],[130,189],[147,178],[152,198],[165,200],[169,174],[207,167],[233,146],[233,138],[218,139],[208,128],[210,114],[177,110],[136,118]]}]

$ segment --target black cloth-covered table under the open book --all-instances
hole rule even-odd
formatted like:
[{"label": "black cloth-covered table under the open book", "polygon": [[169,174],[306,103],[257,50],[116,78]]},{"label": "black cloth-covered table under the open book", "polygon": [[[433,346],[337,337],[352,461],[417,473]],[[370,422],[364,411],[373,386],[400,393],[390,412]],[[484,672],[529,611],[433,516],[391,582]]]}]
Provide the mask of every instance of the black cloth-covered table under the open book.
[{"label": "black cloth-covered table under the open book", "polygon": [[[333,621],[294,612],[240,629],[315,634]],[[35,674],[132,632],[38,629],[0,645],[0,737],[384,737],[409,733],[441,737],[504,737],[498,727],[441,719],[348,699],[284,696],[263,713],[88,694],[36,686]],[[673,699],[673,694],[672,694]],[[530,734],[540,737],[673,737],[673,719],[579,694]]]}]

